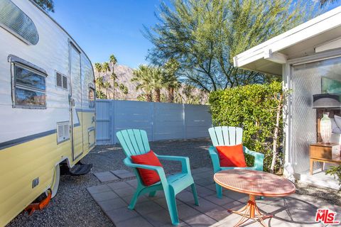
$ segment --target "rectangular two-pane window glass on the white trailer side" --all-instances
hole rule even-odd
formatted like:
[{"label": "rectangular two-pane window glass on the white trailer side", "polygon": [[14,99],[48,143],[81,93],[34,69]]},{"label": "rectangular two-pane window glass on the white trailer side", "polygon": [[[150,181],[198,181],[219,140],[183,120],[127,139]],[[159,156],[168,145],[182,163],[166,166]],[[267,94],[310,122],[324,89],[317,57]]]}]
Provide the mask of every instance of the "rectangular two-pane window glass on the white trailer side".
[{"label": "rectangular two-pane window glass on the white trailer side", "polygon": [[21,64],[13,64],[13,74],[14,106],[45,109],[45,74]]}]

